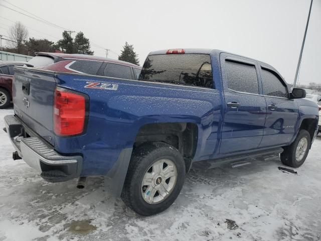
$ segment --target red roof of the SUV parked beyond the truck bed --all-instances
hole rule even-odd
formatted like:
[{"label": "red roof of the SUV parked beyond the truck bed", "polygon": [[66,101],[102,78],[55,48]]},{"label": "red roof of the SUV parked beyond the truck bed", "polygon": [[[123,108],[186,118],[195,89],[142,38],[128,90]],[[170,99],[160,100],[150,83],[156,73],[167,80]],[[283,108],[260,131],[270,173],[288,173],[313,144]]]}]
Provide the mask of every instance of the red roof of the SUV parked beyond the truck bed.
[{"label": "red roof of the SUV parked beyond the truck bed", "polygon": [[87,55],[87,54],[65,54],[65,53],[36,52],[36,55],[46,55],[46,56],[59,57],[59,58],[64,58],[64,59],[86,59],[86,60],[95,60],[95,61],[106,61],[109,63],[124,64],[124,65],[128,65],[131,67],[141,69],[140,66],[132,64],[132,63],[128,63],[125,61],[116,60],[116,59],[109,59],[109,58],[104,58],[104,57],[97,57],[97,56]]}]

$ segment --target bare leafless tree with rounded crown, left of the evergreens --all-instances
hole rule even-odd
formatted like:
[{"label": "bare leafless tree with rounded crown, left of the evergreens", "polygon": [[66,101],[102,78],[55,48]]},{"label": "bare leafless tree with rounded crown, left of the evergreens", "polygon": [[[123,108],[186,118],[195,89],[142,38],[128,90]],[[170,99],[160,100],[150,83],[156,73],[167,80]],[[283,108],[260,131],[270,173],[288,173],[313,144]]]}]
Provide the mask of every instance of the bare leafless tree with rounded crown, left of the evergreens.
[{"label": "bare leafless tree with rounded crown, left of the evergreens", "polygon": [[24,47],[24,41],[28,38],[28,29],[21,23],[16,22],[9,32],[12,45],[17,49],[18,54],[22,53]]}]

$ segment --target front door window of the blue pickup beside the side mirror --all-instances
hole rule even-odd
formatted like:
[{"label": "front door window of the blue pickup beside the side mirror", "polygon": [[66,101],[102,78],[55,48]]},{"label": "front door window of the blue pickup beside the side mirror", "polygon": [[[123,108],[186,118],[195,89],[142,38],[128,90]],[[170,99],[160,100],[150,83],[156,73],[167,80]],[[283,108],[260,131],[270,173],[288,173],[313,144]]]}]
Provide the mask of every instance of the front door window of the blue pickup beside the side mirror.
[{"label": "front door window of the blue pickup beside the side mirror", "polygon": [[287,98],[287,91],[280,77],[272,71],[262,68],[262,87],[263,94]]}]

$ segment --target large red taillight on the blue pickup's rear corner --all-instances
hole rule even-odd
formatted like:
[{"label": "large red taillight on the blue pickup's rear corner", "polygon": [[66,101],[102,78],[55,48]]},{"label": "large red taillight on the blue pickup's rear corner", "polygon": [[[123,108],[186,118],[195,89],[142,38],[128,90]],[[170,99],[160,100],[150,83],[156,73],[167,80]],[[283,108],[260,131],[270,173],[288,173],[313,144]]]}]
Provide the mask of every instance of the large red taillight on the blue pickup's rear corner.
[{"label": "large red taillight on the blue pickup's rear corner", "polygon": [[84,94],[56,87],[54,96],[54,132],[74,136],[84,132],[86,97]]}]

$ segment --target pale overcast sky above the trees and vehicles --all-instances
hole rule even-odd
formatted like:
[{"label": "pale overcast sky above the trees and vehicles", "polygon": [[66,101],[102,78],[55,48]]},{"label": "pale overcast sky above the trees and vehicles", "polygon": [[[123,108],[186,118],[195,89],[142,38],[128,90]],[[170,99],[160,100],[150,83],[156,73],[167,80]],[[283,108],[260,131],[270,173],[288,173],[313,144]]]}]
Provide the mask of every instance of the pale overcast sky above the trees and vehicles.
[{"label": "pale overcast sky above the trees and vehicles", "polygon": [[[84,32],[97,56],[105,56],[107,48],[108,57],[117,58],[125,41],[134,45],[140,65],[154,50],[221,49],[272,65],[288,83],[294,79],[310,4],[309,0],[6,1],[65,29]],[[1,5],[23,12],[7,2],[0,0]],[[29,37],[54,42],[63,31],[3,6],[0,17],[3,35],[8,35],[11,21],[26,25]],[[299,83],[321,83],[320,43],[321,0],[314,0]]]}]

